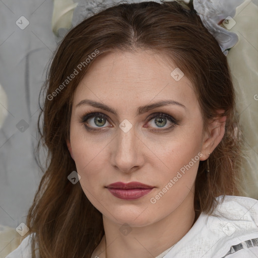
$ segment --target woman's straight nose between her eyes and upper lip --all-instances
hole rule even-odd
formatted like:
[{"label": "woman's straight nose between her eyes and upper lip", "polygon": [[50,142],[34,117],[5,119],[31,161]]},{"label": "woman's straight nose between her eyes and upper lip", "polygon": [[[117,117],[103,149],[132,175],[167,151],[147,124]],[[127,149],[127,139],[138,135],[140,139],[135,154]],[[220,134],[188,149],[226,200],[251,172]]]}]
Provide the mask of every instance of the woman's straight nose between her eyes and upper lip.
[{"label": "woman's straight nose between her eyes and upper lip", "polygon": [[123,173],[130,173],[143,165],[142,149],[144,145],[135,133],[135,126],[124,132],[119,127],[113,140],[111,165]]}]

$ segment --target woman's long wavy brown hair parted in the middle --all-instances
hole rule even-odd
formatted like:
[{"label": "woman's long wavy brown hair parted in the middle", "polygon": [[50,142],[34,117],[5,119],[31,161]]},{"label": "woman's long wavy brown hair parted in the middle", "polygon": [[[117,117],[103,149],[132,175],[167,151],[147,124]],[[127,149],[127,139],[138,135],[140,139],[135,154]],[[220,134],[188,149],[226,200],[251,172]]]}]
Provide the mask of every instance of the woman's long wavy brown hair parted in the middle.
[{"label": "woman's long wavy brown hair parted in the middle", "polygon": [[[196,179],[195,210],[211,214],[216,197],[240,195],[238,168],[242,140],[235,111],[235,93],[226,56],[203,26],[192,4],[143,2],[108,8],[72,29],[54,53],[38,120],[42,143],[47,149],[46,169],[28,212],[27,226],[42,258],[90,258],[104,234],[102,214],[89,202],[80,183],[68,175],[76,170],[66,140],[70,135],[71,108],[77,85],[94,62],[93,58],[65,87],[78,64],[91,53],[151,49],[165,53],[195,87],[204,126],[223,109],[227,116],[225,135],[207,161],[200,161]],[[56,91],[59,87],[60,91]],[[57,92],[53,94],[53,92]],[[54,95],[53,99],[49,96]],[[51,98],[52,98],[51,97]],[[43,114],[43,130],[40,117]],[[34,254],[33,254],[33,257]]]}]

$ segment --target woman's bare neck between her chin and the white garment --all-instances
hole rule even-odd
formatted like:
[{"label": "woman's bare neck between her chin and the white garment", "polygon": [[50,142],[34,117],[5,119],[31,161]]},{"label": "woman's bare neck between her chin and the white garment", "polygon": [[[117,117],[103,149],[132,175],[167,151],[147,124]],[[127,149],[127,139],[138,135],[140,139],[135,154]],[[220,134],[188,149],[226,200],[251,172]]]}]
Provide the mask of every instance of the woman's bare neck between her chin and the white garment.
[{"label": "woman's bare neck between her chin and the white garment", "polygon": [[197,218],[193,207],[193,194],[190,193],[168,216],[144,227],[131,227],[132,231],[127,235],[120,232],[121,225],[103,216],[105,236],[92,257],[156,257],[177,243]]}]

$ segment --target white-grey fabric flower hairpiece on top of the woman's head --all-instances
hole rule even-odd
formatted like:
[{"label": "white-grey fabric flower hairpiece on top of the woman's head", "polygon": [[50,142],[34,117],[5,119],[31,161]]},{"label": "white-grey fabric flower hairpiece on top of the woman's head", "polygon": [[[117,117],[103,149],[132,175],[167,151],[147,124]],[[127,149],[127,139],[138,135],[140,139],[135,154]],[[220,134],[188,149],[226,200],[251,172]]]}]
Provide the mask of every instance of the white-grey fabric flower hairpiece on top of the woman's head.
[{"label": "white-grey fabric flower hairpiece on top of the woman's head", "polygon": [[[74,10],[72,27],[94,14],[114,5],[122,3],[140,3],[153,1],[162,3],[160,0],[74,0],[78,3]],[[222,52],[227,55],[228,49],[233,47],[237,41],[236,33],[230,32],[221,26],[222,21],[230,21],[236,12],[236,8],[244,0],[192,0],[193,8],[200,16],[204,26],[218,41]],[[229,20],[230,19],[230,20]],[[63,31],[62,34],[64,34]]]}]

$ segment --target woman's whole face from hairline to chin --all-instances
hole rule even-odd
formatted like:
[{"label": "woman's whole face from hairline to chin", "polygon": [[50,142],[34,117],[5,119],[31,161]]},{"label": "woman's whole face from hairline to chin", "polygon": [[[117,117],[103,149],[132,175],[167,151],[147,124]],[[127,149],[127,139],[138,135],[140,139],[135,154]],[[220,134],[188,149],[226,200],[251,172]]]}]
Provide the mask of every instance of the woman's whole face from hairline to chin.
[{"label": "woman's whole face from hairline to chin", "polygon": [[[85,195],[114,223],[146,226],[193,203],[203,120],[192,84],[174,69],[150,51],[108,53],[76,89],[68,146]],[[151,187],[107,188],[115,182]]]}]

